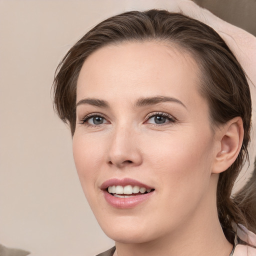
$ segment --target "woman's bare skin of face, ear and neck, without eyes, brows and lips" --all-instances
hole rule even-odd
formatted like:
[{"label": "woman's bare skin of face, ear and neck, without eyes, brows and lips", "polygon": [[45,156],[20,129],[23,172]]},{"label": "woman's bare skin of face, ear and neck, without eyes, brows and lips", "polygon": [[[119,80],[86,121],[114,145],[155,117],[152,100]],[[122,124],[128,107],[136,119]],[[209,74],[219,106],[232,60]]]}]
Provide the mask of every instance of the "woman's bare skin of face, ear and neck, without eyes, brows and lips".
[{"label": "woman's bare skin of face, ear and neck, without eyes, brows and lips", "polygon": [[[228,256],[232,249],[217,218],[215,193],[218,173],[239,152],[242,124],[237,117],[213,133],[198,73],[188,53],[159,42],[108,45],[81,68],[73,156],[88,203],[118,256]],[[181,103],[135,105],[155,96]],[[85,98],[109,106],[81,103]],[[90,117],[83,123],[93,113],[103,122],[93,124]],[[152,114],[161,113],[174,121],[155,123]],[[126,177],[155,190],[137,206],[118,209],[106,202],[100,185]]]}]

